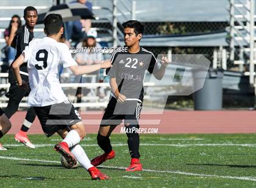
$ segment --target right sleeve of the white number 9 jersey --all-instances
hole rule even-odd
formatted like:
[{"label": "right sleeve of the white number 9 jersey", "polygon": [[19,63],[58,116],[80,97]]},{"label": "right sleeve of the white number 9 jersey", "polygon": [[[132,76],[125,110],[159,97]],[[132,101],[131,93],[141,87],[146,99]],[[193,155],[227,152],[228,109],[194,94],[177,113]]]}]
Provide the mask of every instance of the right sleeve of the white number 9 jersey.
[{"label": "right sleeve of the white number 9 jersey", "polygon": [[60,50],[60,61],[63,64],[63,67],[71,67],[77,65],[77,62],[72,58],[71,53],[69,52],[68,46],[66,44],[60,44],[62,49]]}]

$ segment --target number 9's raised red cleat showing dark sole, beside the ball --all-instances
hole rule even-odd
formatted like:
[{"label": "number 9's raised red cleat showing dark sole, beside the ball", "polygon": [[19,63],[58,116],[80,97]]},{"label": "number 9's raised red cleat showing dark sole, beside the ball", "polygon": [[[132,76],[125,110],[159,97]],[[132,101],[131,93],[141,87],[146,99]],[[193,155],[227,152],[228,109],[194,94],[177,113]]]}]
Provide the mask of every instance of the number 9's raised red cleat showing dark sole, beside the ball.
[{"label": "number 9's raised red cleat showing dark sole, beside the ball", "polygon": [[76,158],[75,158],[74,155],[70,152],[67,143],[61,142],[61,143],[59,143],[59,144],[56,144],[56,145],[54,146],[54,149],[56,150],[56,152],[59,152],[60,154],[62,154],[62,155],[64,156],[64,158],[66,159],[66,162],[67,162],[70,166],[75,166],[75,165],[76,165]]}]

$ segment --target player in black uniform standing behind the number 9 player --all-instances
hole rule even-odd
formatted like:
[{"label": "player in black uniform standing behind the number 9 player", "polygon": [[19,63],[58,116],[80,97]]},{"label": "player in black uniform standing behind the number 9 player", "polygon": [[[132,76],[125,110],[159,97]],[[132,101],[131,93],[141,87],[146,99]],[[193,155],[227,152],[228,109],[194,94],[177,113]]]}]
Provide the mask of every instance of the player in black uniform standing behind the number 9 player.
[{"label": "player in black uniform standing behind the number 9 player", "polygon": [[[16,36],[11,44],[11,46],[16,49],[15,59],[17,59],[23,53],[23,50],[26,48],[26,46],[29,45],[29,42],[32,41],[32,39],[34,38],[33,30],[35,24],[37,23],[37,18],[37,9],[30,6],[24,9],[24,19],[26,21],[26,24],[22,25],[21,28],[17,31]],[[26,63],[21,66],[20,73],[22,79],[28,83],[29,76],[27,73]],[[10,119],[10,117],[12,117],[12,115],[15,112],[17,112],[21,99],[23,99],[24,96],[29,95],[30,89],[21,89],[16,85],[15,77],[13,75],[13,71],[11,68],[9,69],[9,82],[9,92],[5,95],[9,98],[9,102],[4,110],[4,113]],[[27,115],[20,132],[18,132],[15,135],[16,141],[21,142],[30,148],[35,148],[35,146],[31,144],[29,139],[27,138],[27,131],[29,130],[34,119],[35,110],[34,108],[30,107],[29,110],[27,110]]]}]

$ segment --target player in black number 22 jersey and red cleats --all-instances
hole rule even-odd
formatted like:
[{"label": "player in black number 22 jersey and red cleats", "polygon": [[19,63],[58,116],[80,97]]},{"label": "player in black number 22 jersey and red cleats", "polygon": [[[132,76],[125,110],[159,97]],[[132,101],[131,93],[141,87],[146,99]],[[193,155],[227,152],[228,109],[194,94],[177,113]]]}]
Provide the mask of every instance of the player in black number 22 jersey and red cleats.
[{"label": "player in black number 22 jersey and red cleats", "polygon": [[97,136],[98,145],[104,150],[104,154],[91,160],[94,166],[115,157],[109,136],[124,119],[127,143],[132,158],[126,170],[142,170],[138,121],[144,95],[144,73],[148,70],[160,80],[169,64],[168,59],[163,57],[159,68],[153,53],[140,47],[143,32],[144,26],[139,21],[130,20],[123,23],[124,42],[128,50],[127,52],[114,52],[111,58],[112,68],[107,70],[112,92]]}]

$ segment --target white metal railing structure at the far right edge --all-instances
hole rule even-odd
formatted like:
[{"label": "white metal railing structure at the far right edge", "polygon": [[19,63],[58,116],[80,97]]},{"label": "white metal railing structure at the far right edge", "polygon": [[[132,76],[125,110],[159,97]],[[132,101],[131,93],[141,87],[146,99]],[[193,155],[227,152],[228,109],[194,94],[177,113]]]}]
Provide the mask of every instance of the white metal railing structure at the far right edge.
[{"label": "white metal railing structure at the far right edge", "polygon": [[[243,65],[249,65],[249,81],[250,84],[255,84],[255,64],[256,64],[256,37],[254,25],[256,15],[254,15],[255,2],[254,0],[229,0],[230,1],[230,55],[229,60],[233,64],[239,64],[240,70],[243,71]],[[236,51],[235,44],[238,45]],[[238,60],[235,59],[235,54],[238,55]],[[245,73],[246,75],[248,73]]]}]

